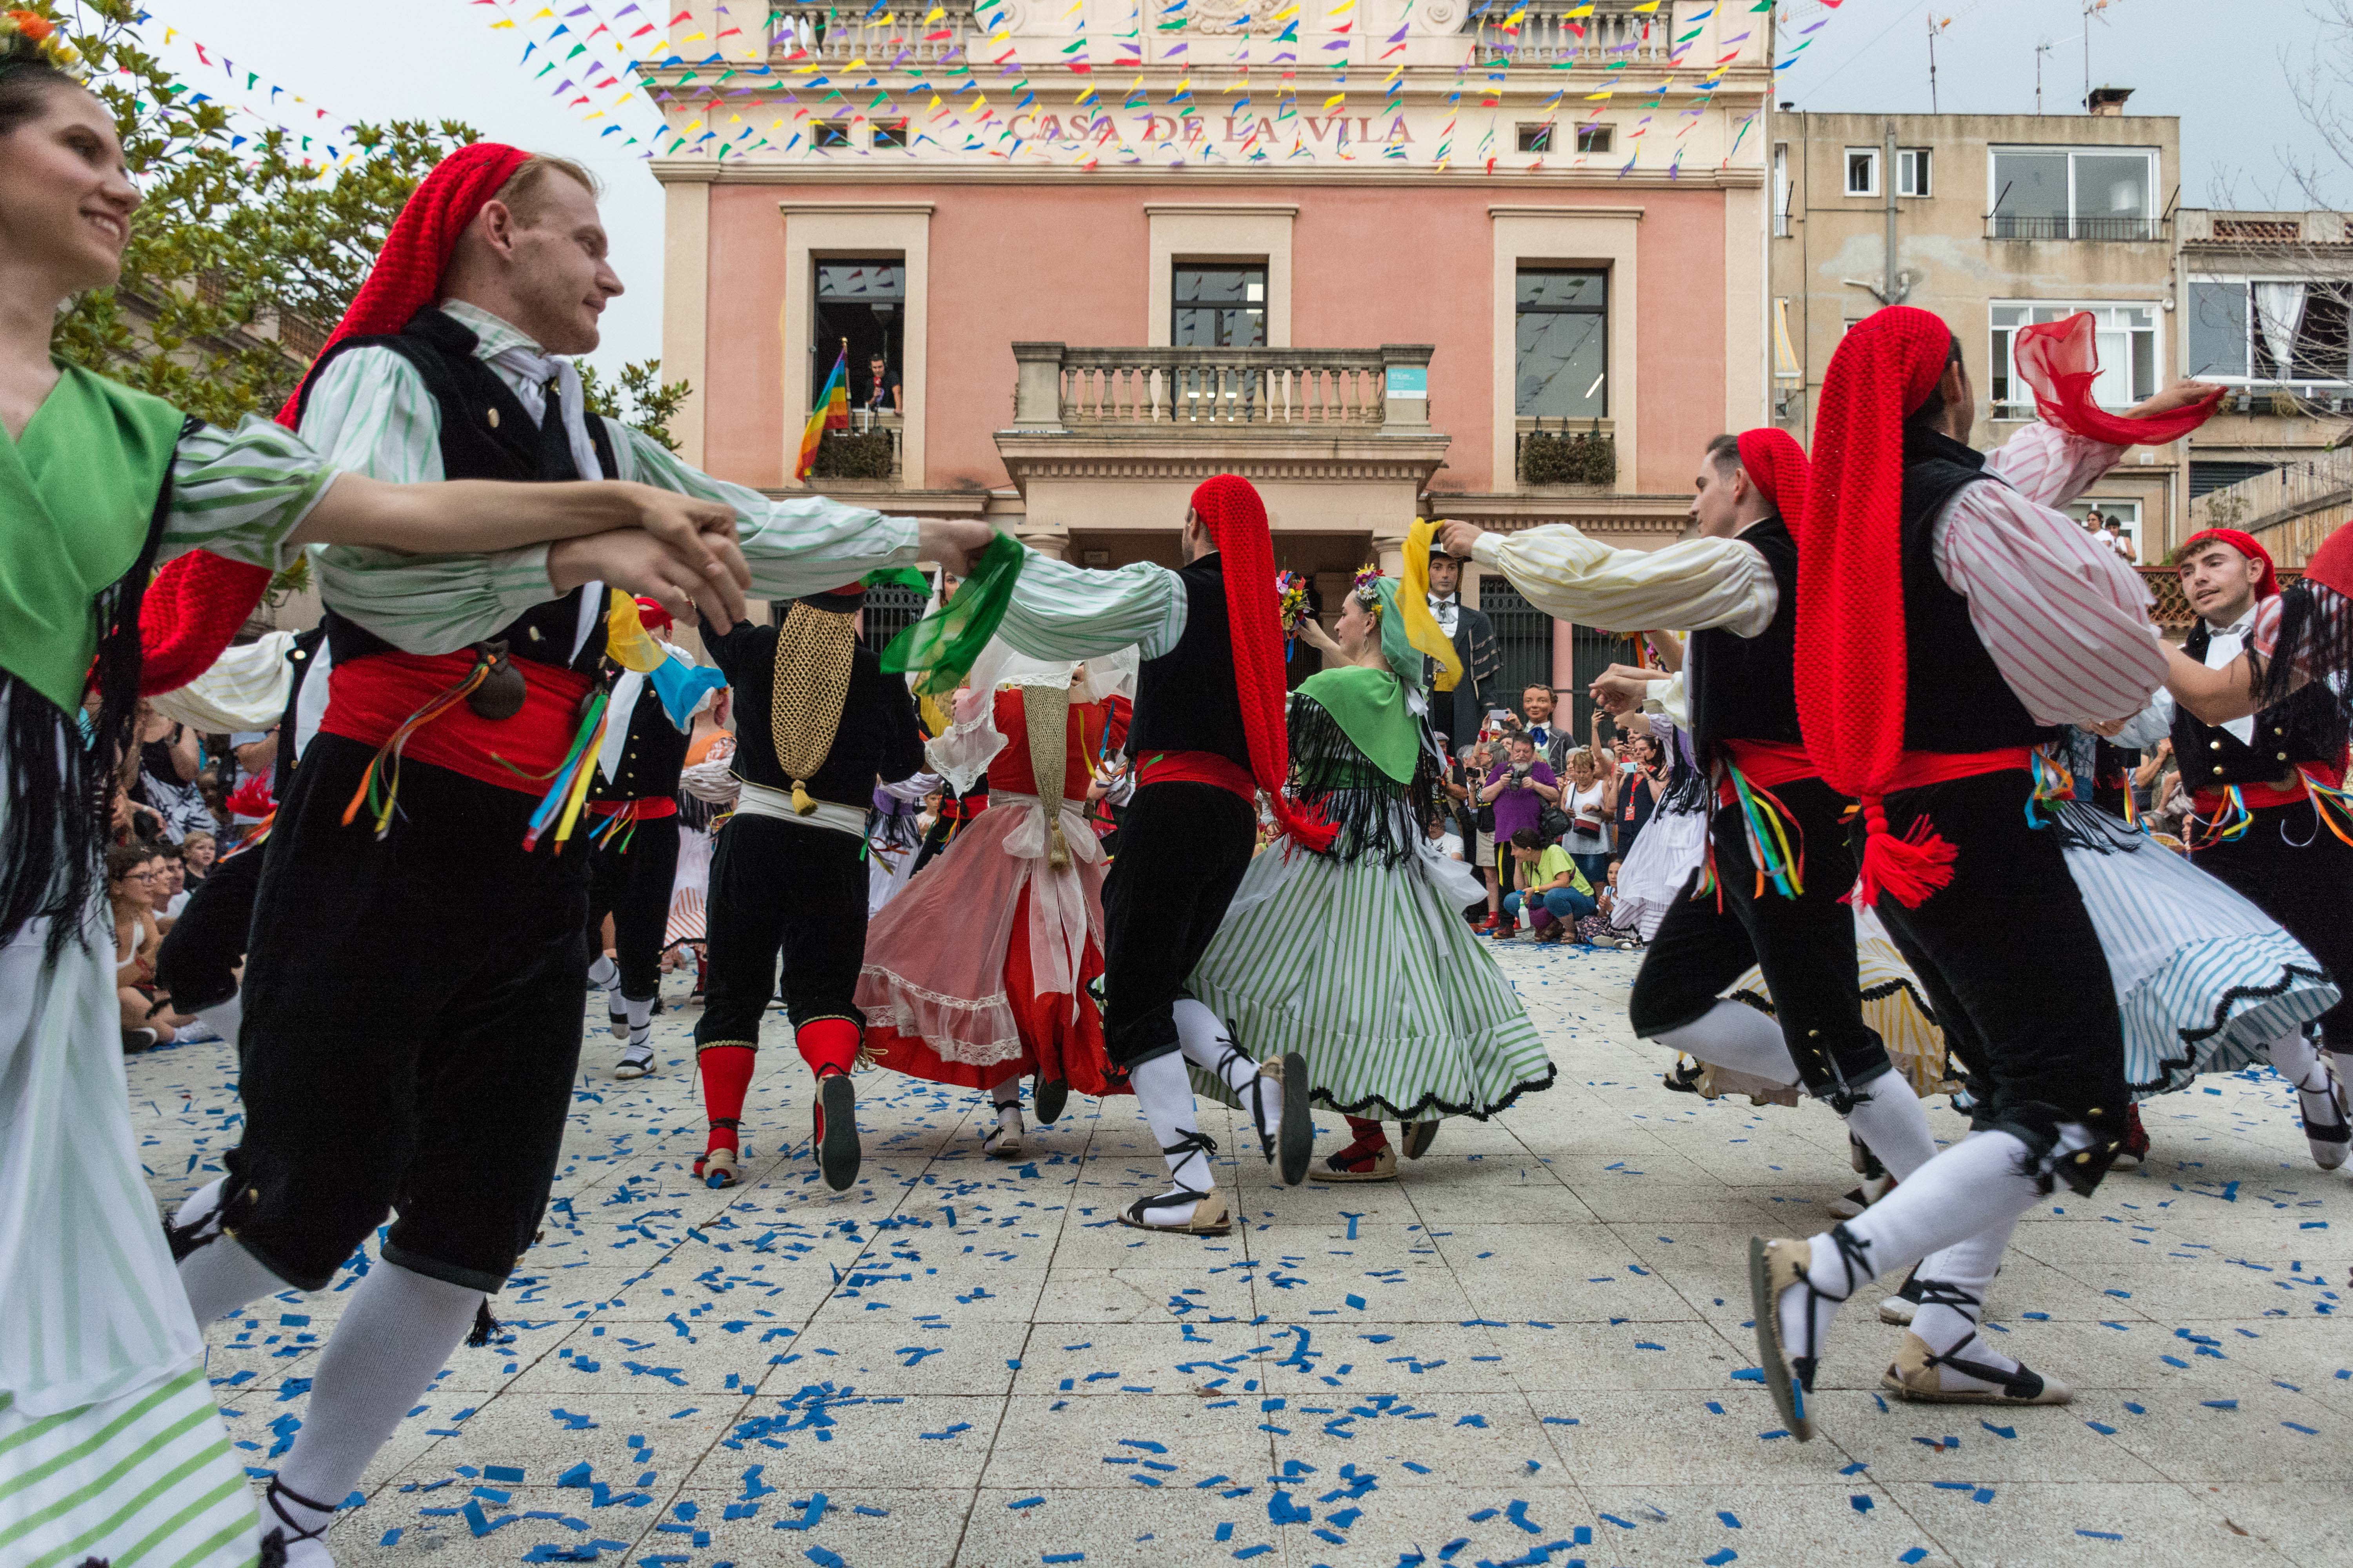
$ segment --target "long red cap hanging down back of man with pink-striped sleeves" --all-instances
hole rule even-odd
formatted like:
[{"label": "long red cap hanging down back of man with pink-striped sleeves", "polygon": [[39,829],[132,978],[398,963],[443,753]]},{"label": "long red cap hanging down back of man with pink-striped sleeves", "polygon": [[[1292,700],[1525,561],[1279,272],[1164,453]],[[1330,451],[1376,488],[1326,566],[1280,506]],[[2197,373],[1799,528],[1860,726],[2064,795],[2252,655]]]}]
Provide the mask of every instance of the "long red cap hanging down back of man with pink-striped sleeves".
[{"label": "long red cap hanging down back of man with pink-striped sleeves", "polygon": [[1798,536],[1798,722],[1821,776],[1866,795],[1904,750],[1904,416],[1953,357],[1953,329],[1889,306],[1821,376]]}]

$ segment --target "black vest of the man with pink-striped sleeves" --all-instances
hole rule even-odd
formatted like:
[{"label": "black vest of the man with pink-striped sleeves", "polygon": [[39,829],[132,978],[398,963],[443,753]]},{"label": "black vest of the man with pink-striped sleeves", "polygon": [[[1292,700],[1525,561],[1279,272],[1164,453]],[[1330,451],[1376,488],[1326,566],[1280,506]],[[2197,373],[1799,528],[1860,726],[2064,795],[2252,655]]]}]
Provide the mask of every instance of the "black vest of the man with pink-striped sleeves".
[{"label": "black vest of the man with pink-striped sleeves", "polygon": [[1969,484],[2000,484],[1986,456],[1904,428],[1904,750],[1993,752],[2040,745],[2035,724],[1969,625],[1969,602],[1937,574],[1937,520]]}]

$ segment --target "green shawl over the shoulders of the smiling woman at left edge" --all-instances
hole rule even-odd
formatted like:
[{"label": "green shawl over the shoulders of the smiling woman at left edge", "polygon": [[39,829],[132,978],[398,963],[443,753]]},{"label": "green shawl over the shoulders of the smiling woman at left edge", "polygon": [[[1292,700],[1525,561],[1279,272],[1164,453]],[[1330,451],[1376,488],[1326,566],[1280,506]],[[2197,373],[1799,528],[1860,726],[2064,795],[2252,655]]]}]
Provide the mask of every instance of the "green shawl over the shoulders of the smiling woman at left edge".
[{"label": "green shawl over the shoulders of the smiling woman at left edge", "polygon": [[99,654],[92,602],[139,559],[186,418],[59,371],[24,437],[0,433],[0,670],[75,712]]}]

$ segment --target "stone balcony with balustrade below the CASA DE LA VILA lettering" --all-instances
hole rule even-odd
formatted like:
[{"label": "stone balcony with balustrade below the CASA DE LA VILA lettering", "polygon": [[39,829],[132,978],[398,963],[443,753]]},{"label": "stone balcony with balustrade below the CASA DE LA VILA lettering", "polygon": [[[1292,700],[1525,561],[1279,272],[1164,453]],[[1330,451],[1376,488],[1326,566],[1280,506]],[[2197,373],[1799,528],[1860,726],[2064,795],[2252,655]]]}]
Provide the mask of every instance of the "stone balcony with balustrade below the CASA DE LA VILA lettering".
[{"label": "stone balcony with balustrade below the CASA DE LA VILA lettering", "polygon": [[1275,529],[1393,534],[1449,444],[1431,428],[1428,343],[1012,350],[995,440],[1033,543],[1106,515],[1174,527],[1214,473],[1259,484]]}]

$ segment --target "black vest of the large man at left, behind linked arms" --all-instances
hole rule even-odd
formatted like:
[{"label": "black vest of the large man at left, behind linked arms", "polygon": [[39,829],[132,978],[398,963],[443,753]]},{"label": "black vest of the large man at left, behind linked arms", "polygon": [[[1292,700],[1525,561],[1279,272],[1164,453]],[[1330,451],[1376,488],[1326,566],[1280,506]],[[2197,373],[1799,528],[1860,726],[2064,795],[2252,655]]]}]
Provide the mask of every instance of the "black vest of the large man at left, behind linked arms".
[{"label": "black vest of the large man at left, behind linked arms", "polygon": [[[572,461],[572,454],[562,442],[551,442],[548,454],[541,456],[539,425],[508,386],[499,381],[496,371],[473,355],[478,343],[480,339],[471,329],[440,310],[419,310],[409,317],[409,324],[393,336],[344,339],[320,355],[311,376],[304,381],[301,407],[308,407],[311,388],[318,386],[318,371],[325,369],[329,360],[353,348],[388,348],[416,367],[416,374],[424,376],[426,393],[433,395],[433,404],[440,409],[442,477],[579,480],[579,465]],[[598,463],[605,468],[602,477],[614,477],[619,468],[614,463],[612,440],[605,435],[602,418],[588,421],[588,440],[595,442]],[[508,654],[515,658],[565,665],[579,670],[581,675],[595,672],[598,661],[605,658],[602,616],[591,623],[588,637],[581,642],[579,651],[574,654],[572,649],[572,642],[579,637],[584,592],[586,590],[574,588],[560,599],[534,604],[529,611],[492,632],[492,639],[504,639]],[[325,628],[334,663],[393,651],[391,642],[353,621],[346,621],[332,609],[327,611]]]}]

